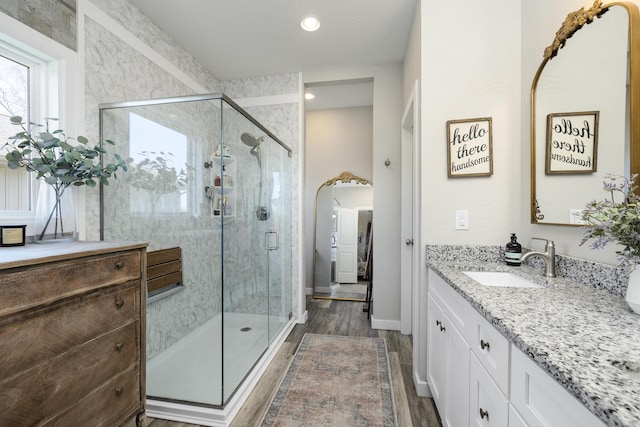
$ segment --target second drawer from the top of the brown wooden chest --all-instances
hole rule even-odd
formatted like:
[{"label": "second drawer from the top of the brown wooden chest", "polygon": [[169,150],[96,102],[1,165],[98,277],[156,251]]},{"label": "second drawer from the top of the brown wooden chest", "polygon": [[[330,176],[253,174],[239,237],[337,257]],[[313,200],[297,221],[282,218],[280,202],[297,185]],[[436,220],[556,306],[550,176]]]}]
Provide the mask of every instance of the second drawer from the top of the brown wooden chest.
[{"label": "second drawer from the top of the brown wooden chest", "polygon": [[6,379],[140,318],[139,285],[102,289],[0,321]]}]

